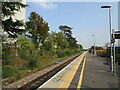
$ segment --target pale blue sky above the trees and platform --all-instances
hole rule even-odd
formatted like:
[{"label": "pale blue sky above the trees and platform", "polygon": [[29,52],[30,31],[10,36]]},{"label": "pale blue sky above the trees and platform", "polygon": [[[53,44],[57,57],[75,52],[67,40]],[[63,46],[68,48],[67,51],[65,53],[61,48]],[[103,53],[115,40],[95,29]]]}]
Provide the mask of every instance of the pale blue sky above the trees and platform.
[{"label": "pale blue sky above the trees and platform", "polygon": [[111,5],[112,28],[118,30],[117,2],[27,2],[26,21],[32,11],[35,11],[48,22],[50,32],[59,32],[60,25],[72,27],[73,37],[85,49],[93,46],[105,46],[109,42],[108,9],[102,5]]}]

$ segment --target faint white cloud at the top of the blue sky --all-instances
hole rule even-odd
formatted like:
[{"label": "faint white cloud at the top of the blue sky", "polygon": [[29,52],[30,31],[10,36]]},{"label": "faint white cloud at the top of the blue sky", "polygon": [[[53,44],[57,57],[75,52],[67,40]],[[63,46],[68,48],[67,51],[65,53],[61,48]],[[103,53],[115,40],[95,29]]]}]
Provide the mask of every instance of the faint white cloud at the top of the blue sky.
[{"label": "faint white cloud at the top of the blue sky", "polygon": [[53,9],[53,8],[57,8],[58,5],[52,2],[39,2],[38,3],[40,5],[40,7],[44,8],[44,9]]}]

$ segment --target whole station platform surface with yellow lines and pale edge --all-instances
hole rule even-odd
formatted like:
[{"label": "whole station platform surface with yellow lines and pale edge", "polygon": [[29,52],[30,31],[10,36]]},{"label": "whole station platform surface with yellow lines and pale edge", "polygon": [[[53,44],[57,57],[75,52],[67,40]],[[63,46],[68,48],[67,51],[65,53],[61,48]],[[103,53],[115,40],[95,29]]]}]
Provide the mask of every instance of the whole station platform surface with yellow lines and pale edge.
[{"label": "whole station platform surface with yellow lines and pale edge", "polygon": [[87,51],[41,85],[51,89],[117,89],[118,77],[106,65],[106,59]]}]

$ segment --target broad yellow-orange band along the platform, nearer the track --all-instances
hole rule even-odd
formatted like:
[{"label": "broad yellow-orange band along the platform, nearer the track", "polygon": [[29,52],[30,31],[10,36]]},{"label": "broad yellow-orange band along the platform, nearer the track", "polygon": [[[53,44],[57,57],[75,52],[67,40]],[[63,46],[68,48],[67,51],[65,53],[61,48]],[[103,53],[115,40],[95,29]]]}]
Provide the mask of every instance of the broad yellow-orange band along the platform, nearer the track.
[{"label": "broad yellow-orange band along the platform, nearer the track", "polygon": [[83,53],[81,55],[80,60],[76,63],[76,65],[72,68],[72,70],[69,72],[69,74],[64,78],[63,82],[60,84],[60,86],[58,88],[68,88],[70,83],[72,82],[72,79],[81,63],[81,61],[83,60],[83,57],[85,56],[86,53]]}]

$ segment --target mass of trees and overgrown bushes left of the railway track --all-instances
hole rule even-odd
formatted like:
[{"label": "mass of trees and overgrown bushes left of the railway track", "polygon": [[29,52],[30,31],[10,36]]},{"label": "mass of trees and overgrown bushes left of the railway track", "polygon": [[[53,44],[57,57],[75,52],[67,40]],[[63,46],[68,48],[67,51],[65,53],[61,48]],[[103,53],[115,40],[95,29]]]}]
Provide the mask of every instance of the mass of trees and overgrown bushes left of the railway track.
[{"label": "mass of trees and overgrown bushes left of the railway track", "polygon": [[[14,22],[12,16],[15,11],[25,6],[4,2],[2,7],[2,23],[8,35],[3,37],[2,43],[2,78],[11,78],[11,82],[82,50],[82,45],[77,44],[72,36],[70,26],[63,25],[59,27],[59,32],[49,33],[48,23],[36,12],[31,12],[26,25],[20,20]],[[6,16],[8,19],[5,19]],[[20,37],[21,34],[25,38]]]}]

